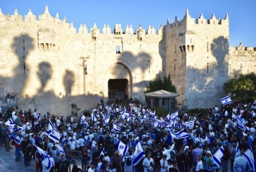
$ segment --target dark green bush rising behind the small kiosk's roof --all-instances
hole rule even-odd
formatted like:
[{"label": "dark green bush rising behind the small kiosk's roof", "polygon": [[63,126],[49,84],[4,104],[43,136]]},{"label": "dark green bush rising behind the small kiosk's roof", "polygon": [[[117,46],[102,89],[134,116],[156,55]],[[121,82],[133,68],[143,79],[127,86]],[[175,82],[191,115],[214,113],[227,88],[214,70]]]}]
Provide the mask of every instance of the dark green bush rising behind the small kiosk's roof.
[{"label": "dark green bush rising behind the small kiosk's roof", "polygon": [[168,77],[157,77],[149,82],[149,85],[146,87],[145,93],[150,93],[152,91],[165,90],[173,93],[177,93],[176,87],[172,84],[171,76]]}]

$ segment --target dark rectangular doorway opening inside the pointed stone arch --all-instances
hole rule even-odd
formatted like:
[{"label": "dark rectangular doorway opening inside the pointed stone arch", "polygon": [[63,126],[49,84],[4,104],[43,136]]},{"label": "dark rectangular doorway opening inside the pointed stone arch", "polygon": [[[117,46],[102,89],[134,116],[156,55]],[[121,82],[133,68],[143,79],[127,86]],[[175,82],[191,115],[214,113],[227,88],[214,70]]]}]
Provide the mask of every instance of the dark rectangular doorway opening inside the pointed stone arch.
[{"label": "dark rectangular doorway opening inside the pointed stone arch", "polygon": [[108,101],[127,100],[129,81],[127,79],[108,80]]}]

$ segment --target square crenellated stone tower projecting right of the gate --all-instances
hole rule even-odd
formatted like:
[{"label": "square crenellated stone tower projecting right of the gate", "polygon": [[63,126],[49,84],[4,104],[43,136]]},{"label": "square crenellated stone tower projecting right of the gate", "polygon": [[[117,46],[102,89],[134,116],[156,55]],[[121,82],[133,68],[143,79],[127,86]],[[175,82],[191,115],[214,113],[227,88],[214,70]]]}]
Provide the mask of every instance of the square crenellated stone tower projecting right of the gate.
[{"label": "square crenellated stone tower projecting right of the gate", "polygon": [[191,107],[215,105],[222,98],[222,86],[229,78],[229,17],[195,20],[186,10],[164,27],[165,72],[170,74],[181,96],[178,102]]}]

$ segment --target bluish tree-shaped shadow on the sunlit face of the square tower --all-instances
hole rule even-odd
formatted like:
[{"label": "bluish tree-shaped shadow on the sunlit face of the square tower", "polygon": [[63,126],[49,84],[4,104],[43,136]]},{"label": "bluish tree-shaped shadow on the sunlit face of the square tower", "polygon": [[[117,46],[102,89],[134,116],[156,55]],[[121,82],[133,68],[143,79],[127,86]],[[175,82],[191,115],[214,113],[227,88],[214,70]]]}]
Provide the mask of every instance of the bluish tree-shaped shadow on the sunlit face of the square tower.
[{"label": "bluish tree-shaped shadow on the sunlit face of the square tower", "polygon": [[[198,107],[204,105],[215,105],[223,96],[223,84],[229,78],[227,56],[229,54],[229,40],[224,37],[217,37],[211,44],[212,55],[216,62],[205,62],[205,67],[198,70],[195,67],[186,68],[186,86],[191,97],[186,102],[197,102]],[[214,90],[219,92],[213,95]],[[202,100],[204,98],[204,100]]]}]

